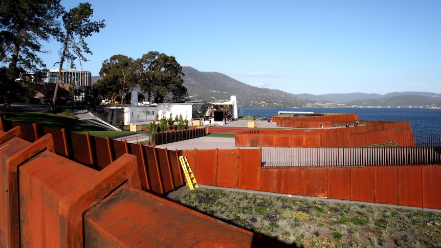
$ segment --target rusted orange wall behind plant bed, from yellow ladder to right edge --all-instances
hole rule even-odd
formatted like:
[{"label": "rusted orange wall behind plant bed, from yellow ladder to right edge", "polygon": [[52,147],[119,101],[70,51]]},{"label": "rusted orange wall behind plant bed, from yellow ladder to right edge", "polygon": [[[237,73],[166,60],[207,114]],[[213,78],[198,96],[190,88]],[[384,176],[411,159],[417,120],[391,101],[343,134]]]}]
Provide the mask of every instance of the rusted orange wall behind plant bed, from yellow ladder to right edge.
[{"label": "rusted orange wall behind plant bed, from yellow ladder to right edge", "polygon": [[182,154],[201,185],[441,209],[441,166],[260,167],[261,149]]}]

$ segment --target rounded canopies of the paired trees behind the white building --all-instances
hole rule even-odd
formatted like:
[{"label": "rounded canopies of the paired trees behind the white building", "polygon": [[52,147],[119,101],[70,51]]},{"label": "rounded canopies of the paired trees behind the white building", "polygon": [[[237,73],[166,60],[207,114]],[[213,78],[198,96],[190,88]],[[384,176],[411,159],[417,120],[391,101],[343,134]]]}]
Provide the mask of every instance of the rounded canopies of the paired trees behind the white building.
[{"label": "rounded canopies of the paired trees behind the white building", "polygon": [[[187,97],[187,89],[182,85],[182,66],[173,56],[164,53],[148,52],[133,60],[125,55],[114,55],[103,62],[100,76],[93,85],[95,95],[112,99],[112,103],[124,93],[138,87],[148,101],[156,103],[165,100],[181,101]],[[128,92],[128,91],[127,91]]]}]

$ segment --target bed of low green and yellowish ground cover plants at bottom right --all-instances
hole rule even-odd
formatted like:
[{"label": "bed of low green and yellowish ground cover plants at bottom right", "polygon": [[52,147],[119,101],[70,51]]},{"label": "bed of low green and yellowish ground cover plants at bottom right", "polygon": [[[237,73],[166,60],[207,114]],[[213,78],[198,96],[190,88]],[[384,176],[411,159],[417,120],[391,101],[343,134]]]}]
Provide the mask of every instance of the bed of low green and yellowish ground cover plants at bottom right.
[{"label": "bed of low green and yellowish ground cover plants at bottom right", "polygon": [[235,226],[304,247],[439,247],[441,212],[211,188],[169,199]]}]

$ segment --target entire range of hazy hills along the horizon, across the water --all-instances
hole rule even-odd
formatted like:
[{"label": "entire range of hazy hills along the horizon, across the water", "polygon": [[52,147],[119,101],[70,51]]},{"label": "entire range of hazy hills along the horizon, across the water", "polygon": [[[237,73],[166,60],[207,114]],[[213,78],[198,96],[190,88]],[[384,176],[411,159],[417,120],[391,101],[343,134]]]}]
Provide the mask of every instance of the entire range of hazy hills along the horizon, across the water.
[{"label": "entire range of hazy hills along the horizon, across the water", "polygon": [[[228,101],[230,96],[236,96],[238,104],[247,108],[441,105],[441,94],[430,92],[291,94],[254,87],[222,73],[200,72],[189,66],[183,66],[182,72],[189,100],[195,102]],[[100,78],[93,76],[92,84]]]}]

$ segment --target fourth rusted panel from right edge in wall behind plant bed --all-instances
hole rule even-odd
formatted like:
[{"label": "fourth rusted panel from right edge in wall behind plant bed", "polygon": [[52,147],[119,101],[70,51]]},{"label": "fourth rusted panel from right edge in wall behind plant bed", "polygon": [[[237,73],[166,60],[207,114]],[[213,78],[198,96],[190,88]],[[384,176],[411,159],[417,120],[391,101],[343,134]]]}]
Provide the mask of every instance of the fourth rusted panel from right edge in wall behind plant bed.
[{"label": "fourth rusted panel from right edge in wall behind plant bed", "polygon": [[351,200],[374,202],[373,167],[351,168],[350,185]]}]

